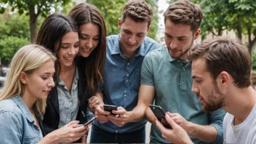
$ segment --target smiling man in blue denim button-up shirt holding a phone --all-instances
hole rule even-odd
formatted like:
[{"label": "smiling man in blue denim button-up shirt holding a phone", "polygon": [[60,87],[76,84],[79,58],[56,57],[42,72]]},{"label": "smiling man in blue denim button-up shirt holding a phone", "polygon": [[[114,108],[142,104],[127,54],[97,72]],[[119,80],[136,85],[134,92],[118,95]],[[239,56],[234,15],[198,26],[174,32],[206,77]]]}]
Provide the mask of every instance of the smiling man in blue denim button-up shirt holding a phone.
[{"label": "smiling man in blue denim button-up shirt holding a phone", "polygon": [[145,120],[134,122],[145,55],[160,45],[146,37],[153,17],[145,1],[129,1],[119,18],[119,35],[108,36],[103,75],[104,104],[116,105],[117,116],[96,108],[90,143],[145,143]]}]

